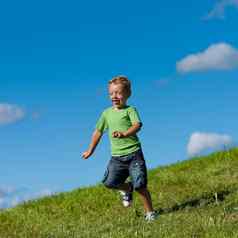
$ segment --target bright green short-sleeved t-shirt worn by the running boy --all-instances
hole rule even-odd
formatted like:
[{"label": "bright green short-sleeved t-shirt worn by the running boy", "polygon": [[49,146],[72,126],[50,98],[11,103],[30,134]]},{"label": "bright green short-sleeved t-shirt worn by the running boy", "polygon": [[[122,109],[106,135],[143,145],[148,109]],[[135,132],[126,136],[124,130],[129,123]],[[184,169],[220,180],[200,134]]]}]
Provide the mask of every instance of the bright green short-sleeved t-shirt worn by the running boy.
[{"label": "bright green short-sleeved t-shirt worn by the running boy", "polygon": [[140,148],[140,141],[137,135],[125,138],[114,138],[114,131],[127,131],[134,123],[141,122],[136,108],[125,106],[122,109],[115,110],[113,107],[107,108],[101,114],[96,124],[96,129],[101,133],[108,130],[111,142],[111,154],[113,156],[128,155]]}]

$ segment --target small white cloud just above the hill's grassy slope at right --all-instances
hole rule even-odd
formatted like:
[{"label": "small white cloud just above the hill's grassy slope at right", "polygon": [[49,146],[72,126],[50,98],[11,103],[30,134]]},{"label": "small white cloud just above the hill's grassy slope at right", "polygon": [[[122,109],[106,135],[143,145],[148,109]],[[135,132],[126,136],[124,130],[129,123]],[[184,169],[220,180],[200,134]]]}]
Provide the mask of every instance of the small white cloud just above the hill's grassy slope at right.
[{"label": "small white cloud just above the hill's grassy slope at right", "polygon": [[219,149],[232,144],[232,137],[216,133],[194,132],[189,139],[187,152],[195,156],[206,149]]}]

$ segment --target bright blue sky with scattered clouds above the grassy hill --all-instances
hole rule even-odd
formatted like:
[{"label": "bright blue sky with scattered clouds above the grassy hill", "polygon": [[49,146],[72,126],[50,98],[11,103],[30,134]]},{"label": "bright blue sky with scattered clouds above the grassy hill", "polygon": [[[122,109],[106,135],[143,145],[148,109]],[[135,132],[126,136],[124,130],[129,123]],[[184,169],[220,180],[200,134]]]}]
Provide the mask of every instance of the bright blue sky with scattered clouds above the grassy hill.
[{"label": "bright blue sky with scattered clouds above the grassy hill", "polygon": [[0,20],[0,207],[100,182],[107,135],[81,153],[118,74],[149,168],[236,144],[237,0],[7,1]]}]

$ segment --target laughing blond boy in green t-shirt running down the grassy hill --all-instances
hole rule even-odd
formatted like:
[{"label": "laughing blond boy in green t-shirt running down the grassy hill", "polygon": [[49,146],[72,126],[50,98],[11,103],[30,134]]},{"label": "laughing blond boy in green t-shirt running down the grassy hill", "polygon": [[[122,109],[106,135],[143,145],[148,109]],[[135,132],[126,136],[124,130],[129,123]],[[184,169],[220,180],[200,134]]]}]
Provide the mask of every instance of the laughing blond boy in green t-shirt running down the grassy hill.
[{"label": "laughing blond boy in green t-shirt running down the grassy hill", "polygon": [[[108,90],[112,107],[101,114],[89,149],[82,157],[87,159],[93,154],[102,134],[108,130],[112,157],[102,182],[106,187],[120,191],[125,207],[131,205],[133,190],[137,191],[144,205],[145,219],[155,220],[157,213],[153,210],[147,189],[145,160],[136,135],[142,123],[136,109],[126,104],[131,95],[130,81],[125,76],[114,77],[109,81]],[[131,182],[126,183],[128,176]]]}]

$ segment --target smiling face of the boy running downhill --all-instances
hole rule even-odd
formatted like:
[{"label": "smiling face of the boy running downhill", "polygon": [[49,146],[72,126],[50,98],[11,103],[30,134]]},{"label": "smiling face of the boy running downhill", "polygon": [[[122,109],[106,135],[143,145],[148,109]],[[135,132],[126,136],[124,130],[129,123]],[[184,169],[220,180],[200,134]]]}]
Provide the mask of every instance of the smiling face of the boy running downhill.
[{"label": "smiling face of the boy running downhill", "polygon": [[109,85],[109,96],[112,100],[112,105],[115,108],[122,108],[126,105],[128,99],[127,93],[122,84],[112,83]]}]

